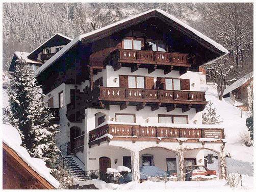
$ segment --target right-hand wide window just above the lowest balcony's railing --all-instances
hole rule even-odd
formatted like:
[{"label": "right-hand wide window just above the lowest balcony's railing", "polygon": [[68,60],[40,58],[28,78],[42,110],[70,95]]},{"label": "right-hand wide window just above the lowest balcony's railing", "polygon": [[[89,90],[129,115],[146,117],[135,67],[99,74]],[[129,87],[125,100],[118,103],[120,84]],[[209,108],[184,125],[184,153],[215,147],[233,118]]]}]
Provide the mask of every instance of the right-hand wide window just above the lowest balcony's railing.
[{"label": "right-hand wide window just above the lowest balcony's railing", "polygon": [[188,115],[158,115],[158,122],[188,124]]}]

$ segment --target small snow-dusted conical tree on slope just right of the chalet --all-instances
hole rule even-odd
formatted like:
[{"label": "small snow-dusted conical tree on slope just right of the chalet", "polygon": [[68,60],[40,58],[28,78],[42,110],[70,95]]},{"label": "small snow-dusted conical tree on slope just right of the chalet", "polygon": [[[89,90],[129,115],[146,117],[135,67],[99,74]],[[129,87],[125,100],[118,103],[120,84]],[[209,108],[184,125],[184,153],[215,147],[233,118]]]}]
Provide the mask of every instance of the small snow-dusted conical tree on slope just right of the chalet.
[{"label": "small snow-dusted conical tree on slope just right of the chalet", "polygon": [[203,124],[220,124],[222,121],[219,120],[220,115],[217,115],[216,109],[212,107],[211,100],[206,106],[207,112],[202,113],[202,123]]}]

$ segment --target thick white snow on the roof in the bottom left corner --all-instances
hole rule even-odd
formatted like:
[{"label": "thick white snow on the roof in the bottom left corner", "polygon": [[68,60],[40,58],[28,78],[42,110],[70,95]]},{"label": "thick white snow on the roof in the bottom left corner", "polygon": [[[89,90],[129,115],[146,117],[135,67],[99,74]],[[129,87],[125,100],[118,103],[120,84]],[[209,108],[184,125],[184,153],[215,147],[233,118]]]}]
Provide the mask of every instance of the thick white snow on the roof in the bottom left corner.
[{"label": "thick white snow on the roof in the bottom left corner", "polygon": [[50,175],[50,169],[45,166],[45,162],[40,158],[32,158],[27,149],[20,146],[21,138],[15,129],[15,127],[3,124],[3,142],[10,148],[12,148],[25,163],[29,165],[35,172],[41,177],[46,179],[55,188],[58,188],[60,183],[52,175]]}]

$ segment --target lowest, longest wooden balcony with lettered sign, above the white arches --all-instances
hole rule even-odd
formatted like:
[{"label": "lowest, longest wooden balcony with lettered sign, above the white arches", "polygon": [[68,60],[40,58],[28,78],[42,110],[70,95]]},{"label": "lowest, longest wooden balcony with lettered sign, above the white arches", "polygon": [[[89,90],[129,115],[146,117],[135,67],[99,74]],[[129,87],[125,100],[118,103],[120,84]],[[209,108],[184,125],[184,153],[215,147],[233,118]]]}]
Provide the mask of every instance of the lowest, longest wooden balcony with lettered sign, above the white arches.
[{"label": "lowest, longest wooden balcony with lettered sign, above the white arches", "polygon": [[[189,125],[188,125],[189,126]],[[192,125],[193,126],[193,125]],[[110,134],[116,140],[139,140],[139,141],[161,141],[178,142],[177,138],[188,138],[190,142],[198,142],[200,138],[224,139],[224,129],[209,128],[179,128],[172,126],[141,126],[139,124],[116,124],[108,123],[89,132],[89,147],[100,142],[110,140],[104,137]],[[195,140],[196,139],[196,140]],[[180,140],[181,141],[181,140]]]}]

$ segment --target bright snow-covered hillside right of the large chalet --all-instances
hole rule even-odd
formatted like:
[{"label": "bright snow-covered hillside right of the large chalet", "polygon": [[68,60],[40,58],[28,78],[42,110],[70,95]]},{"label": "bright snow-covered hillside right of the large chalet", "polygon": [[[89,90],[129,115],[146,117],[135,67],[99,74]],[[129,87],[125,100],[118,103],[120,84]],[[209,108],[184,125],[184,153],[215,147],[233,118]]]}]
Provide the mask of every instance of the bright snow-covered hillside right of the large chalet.
[{"label": "bright snow-covered hillside right of the large chalet", "polygon": [[203,85],[201,90],[206,91],[206,100],[211,100],[213,107],[216,108],[217,114],[220,114],[220,118],[223,120],[221,125],[224,127],[225,138],[227,140],[225,151],[229,152],[233,159],[252,163],[253,147],[246,147],[239,142],[239,134],[248,131],[245,121],[249,117],[249,114],[243,111],[241,118],[239,108],[224,100],[220,101],[218,99],[216,84],[209,83]]}]

